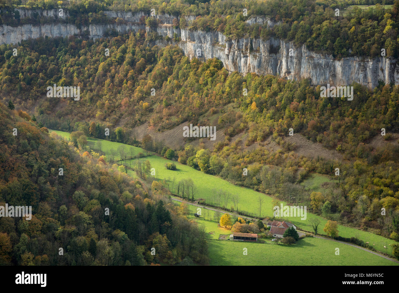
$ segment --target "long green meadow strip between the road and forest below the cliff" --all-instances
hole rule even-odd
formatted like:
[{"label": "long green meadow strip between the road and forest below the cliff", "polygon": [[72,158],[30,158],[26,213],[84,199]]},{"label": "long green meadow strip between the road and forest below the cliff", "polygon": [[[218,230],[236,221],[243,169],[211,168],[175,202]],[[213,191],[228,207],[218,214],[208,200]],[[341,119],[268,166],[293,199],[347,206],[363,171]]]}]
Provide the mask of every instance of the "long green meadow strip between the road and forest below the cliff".
[{"label": "long green meadow strip between the road and forest below the cliff", "polygon": [[[57,135],[62,136],[63,138],[69,138],[69,133],[68,132],[62,132],[62,131],[54,131],[51,130],[51,132],[55,132]],[[111,142],[107,140],[99,140],[97,138],[87,138],[88,142],[93,144],[93,147],[97,141],[101,141],[102,143],[102,151],[107,154],[110,153],[111,149],[117,150],[118,147],[120,146],[125,146],[126,149],[130,149],[131,147],[134,150],[134,155],[137,155],[138,153],[146,153],[146,150],[140,148],[140,147],[134,147],[134,146],[129,146],[126,144],[121,144],[118,142]],[[262,205],[261,209],[261,216],[262,217],[273,217],[273,197],[270,197],[268,195],[265,195],[263,193],[259,193],[257,191],[254,191],[252,189],[248,189],[245,187],[239,187],[236,185],[233,185],[232,183],[229,183],[228,181],[225,181],[219,177],[205,174],[201,171],[197,171],[193,169],[192,167],[189,167],[187,165],[183,165],[181,163],[178,163],[177,161],[174,162],[176,164],[176,170],[168,170],[165,168],[165,164],[170,162],[170,160],[159,157],[157,155],[152,155],[140,159],[130,159],[126,160],[127,162],[130,161],[132,167],[136,164],[136,161],[150,161],[151,167],[155,168],[156,172],[156,179],[161,179],[161,180],[170,180],[172,181],[173,178],[175,178],[175,183],[174,187],[171,190],[172,193],[176,194],[177,193],[177,183],[180,180],[183,179],[189,179],[191,178],[194,181],[194,184],[196,185],[197,188],[197,193],[195,195],[195,199],[205,199],[206,203],[213,203],[213,189],[219,190],[222,189],[225,192],[230,193],[231,195],[238,195],[239,196],[239,203],[238,203],[238,208],[240,211],[247,211],[250,212],[251,214],[255,216],[259,216],[259,204],[257,203],[259,197],[262,197],[264,199],[264,203]],[[119,165],[122,165],[122,162],[118,162]],[[128,175],[131,175],[132,177],[135,177],[136,174],[132,170],[128,170]],[[171,183],[170,183],[171,185]],[[223,203],[223,200],[222,200]],[[285,202],[280,201],[283,205],[286,205]],[[230,208],[232,206],[232,201],[227,205],[227,208]],[[323,232],[323,227],[326,224],[327,220],[321,216],[312,214],[310,212],[307,213],[306,220],[300,220],[300,217],[284,217],[284,220],[288,220],[289,222],[292,222],[295,224],[297,227],[312,232],[312,226],[310,224],[310,219],[312,218],[318,218],[320,220],[320,224],[318,226],[318,234],[325,234]],[[280,218],[282,219],[282,218]],[[351,237],[356,237],[359,240],[363,240],[364,242],[369,242],[369,245],[372,245],[376,250],[380,252],[384,252],[389,255],[392,254],[392,249],[390,244],[395,244],[395,240],[391,240],[388,238],[385,238],[383,236],[379,236],[376,234],[373,234],[371,232],[367,231],[362,231],[358,230],[356,228],[350,228],[344,225],[338,225],[338,235],[346,238],[351,238]],[[374,245],[375,244],[375,245]],[[386,248],[384,248],[384,246]]]}]

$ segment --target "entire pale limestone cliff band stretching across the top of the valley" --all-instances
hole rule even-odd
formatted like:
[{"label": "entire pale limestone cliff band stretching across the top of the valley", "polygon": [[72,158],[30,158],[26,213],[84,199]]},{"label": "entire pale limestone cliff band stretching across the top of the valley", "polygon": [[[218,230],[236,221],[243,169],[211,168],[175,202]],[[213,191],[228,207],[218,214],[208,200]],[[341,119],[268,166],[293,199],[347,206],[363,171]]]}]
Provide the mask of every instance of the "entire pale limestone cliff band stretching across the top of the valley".
[{"label": "entire pale limestone cliff band stretching across the top of the valley", "polygon": [[[56,10],[42,11],[43,15],[54,16]],[[28,12],[26,12],[26,15]],[[33,12],[29,12],[33,13]],[[146,29],[147,32],[154,29],[138,25],[143,12],[105,12],[110,17],[120,17],[128,21],[128,24],[91,24],[89,27],[77,28],[73,24],[42,24],[38,26],[23,25],[16,28],[0,26],[0,44],[15,44],[22,40],[38,37],[68,37],[81,35],[85,31],[93,39],[103,37],[107,31],[115,30],[118,33],[127,33]],[[25,15],[25,14],[24,14]],[[22,16],[21,16],[22,17]],[[55,17],[55,16],[54,16]],[[176,33],[181,41],[178,46],[190,58],[200,59],[217,58],[230,72],[238,71],[246,74],[254,72],[259,75],[277,75],[287,79],[310,79],[312,85],[350,85],[353,82],[374,88],[378,81],[384,83],[399,84],[399,66],[393,58],[376,57],[361,58],[348,57],[334,59],[331,55],[318,54],[306,49],[306,46],[295,47],[292,42],[271,38],[267,41],[261,39],[243,38],[229,40],[217,31],[189,31],[188,29],[173,28],[172,21],[175,18],[170,15],[156,16],[162,24],[156,28],[156,32],[163,37],[173,38]],[[192,19],[190,16],[188,19]],[[276,25],[270,19],[253,17],[247,20],[248,24]],[[156,41],[157,45],[166,46],[174,41]],[[199,50],[198,50],[199,49]],[[290,56],[292,49],[292,56]],[[200,55],[198,55],[198,52]]]}]

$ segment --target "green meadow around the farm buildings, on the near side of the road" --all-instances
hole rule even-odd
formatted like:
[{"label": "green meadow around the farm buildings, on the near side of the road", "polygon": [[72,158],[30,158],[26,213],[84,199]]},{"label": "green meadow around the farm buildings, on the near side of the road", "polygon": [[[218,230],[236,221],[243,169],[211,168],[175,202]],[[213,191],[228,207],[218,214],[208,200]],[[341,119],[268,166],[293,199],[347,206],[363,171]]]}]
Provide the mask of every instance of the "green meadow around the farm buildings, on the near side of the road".
[{"label": "green meadow around the farm buildings, on the near side of the road", "polygon": [[[174,201],[181,205],[181,202]],[[188,218],[204,225],[208,234],[210,265],[398,265],[375,254],[353,246],[320,238],[301,238],[290,246],[275,244],[270,239],[263,243],[218,240],[219,234],[231,234],[217,227],[214,211],[209,210],[209,220],[193,216],[196,207],[188,205]],[[202,216],[203,209],[202,209]],[[247,248],[247,255],[243,255]],[[335,255],[336,248],[340,255]]]}]

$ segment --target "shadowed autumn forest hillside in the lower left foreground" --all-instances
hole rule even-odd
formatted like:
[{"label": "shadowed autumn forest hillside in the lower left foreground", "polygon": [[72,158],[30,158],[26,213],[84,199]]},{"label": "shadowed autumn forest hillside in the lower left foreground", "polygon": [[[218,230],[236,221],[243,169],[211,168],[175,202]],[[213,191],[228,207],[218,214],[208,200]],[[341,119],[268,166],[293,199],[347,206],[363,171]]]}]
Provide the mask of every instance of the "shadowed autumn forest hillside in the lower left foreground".
[{"label": "shadowed autumn forest hillside in the lower left foreground", "polygon": [[169,199],[22,110],[0,104],[0,120],[0,206],[33,210],[0,218],[0,265],[207,264],[205,232]]}]

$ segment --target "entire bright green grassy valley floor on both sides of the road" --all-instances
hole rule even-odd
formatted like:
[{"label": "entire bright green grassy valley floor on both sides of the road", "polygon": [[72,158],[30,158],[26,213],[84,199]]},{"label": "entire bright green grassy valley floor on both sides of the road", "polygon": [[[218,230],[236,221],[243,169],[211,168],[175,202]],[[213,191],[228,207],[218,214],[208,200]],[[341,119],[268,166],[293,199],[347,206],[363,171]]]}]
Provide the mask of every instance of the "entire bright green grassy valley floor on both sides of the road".
[{"label": "entire bright green grassy valley floor on both sides of the road", "polygon": [[[62,136],[63,138],[69,137],[69,133],[67,132],[53,131],[53,130],[51,130],[51,132],[55,132],[56,134]],[[95,149],[94,146],[99,140],[96,138],[87,138],[87,140]],[[102,142],[102,151],[105,152],[106,155],[109,155],[111,149],[117,150],[119,146],[123,145],[117,142],[110,142],[107,140],[100,140],[100,141]],[[139,147],[132,147],[129,145],[124,145],[124,146],[127,149],[133,148],[132,150],[135,155],[138,154],[139,152],[144,154],[146,153],[144,149],[141,149]],[[130,153],[130,151],[128,151],[128,153]],[[197,171],[192,167],[180,164],[178,162],[174,162],[176,163],[177,167],[176,170],[174,171],[167,170],[164,167],[164,165],[165,163],[170,162],[170,160],[156,155],[141,158],[140,161],[145,161],[147,159],[150,161],[151,166],[154,167],[156,170],[156,180],[162,179],[168,181],[170,183],[171,186],[170,189],[172,190],[172,192],[176,193],[177,189],[176,186],[178,181],[182,179],[192,178],[198,189],[198,192],[195,196],[197,199],[203,198],[206,199],[207,202],[212,203],[213,189],[223,189],[231,194],[238,194],[240,196],[239,199],[240,210],[247,210],[253,214],[259,214],[259,206],[257,206],[257,199],[259,198],[259,196],[262,196],[265,199],[265,203],[262,207],[262,216],[265,217],[267,215],[269,216],[273,215],[273,205],[272,205],[273,198],[268,195],[253,191],[252,189],[247,189],[244,187],[233,185],[219,177],[205,174],[201,171]],[[133,167],[136,163],[136,160],[137,159],[127,160],[126,163],[128,163]],[[122,162],[118,162],[118,164],[121,165]],[[131,170],[128,170],[128,175],[131,175],[132,177],[136,176],[135,172]],[[320,178],[317,177],[316,179],[320,180]],[[172,187],[172,180],[175,181],[174,187]],[[282,203],[285,205],[284,202]],[[194,211],[192,213],[194,213]],[[213,212],[210,218],[213,218]],[[322,227],[324,227],[324,224],[327,222],[327,220],[321,216],[311,214],[310,212],[307,213],[307,220],[300,220],[300,218],[298,217],[288,217],[285,218],[285,220],[294,223],[296,226],[304,230],[312,231],[312,227],[310,226],[309,222],[309,219],[311,218],[318,218],[320,220],[319,228],[320,227],[321,228],[319,230],[322,231]],[[216,231],[216,229],[218,229],[217,223],[214,221],[205,221],[205,220],[198,220],[198,221],[203,221],[201,222],[201,224],[205,224],[208,232]],[[342,237],[347,237],[347,238],[356,237],[358,239],[363,240],[364,242],[369,242],[370,244],[373,243],[374,247],[377,250],[385,252],[389,255],[392,255],[390,245],[396,243],[394,240],[387,239],[385,237],[373,234],[371,232],[366,232],[343,225],[338,225],[338,231],[339,235]],[[229,233],[230,232],[225,231],[225,234]],[[223,233],[219,232],[219,234],[215,233],[213,235],[216,236],[216,234],[217,238],[212,237],[214,241],[212,240],[209,244],[209,254],[211,258],[211,264],[216,264],[216,265],[222,263],[226,265],[233,263],[237,265],[239,264],[397,265],[397,263],[391,260],[382,258],[381,255],[375,255],[369,253],[368,250],[364,251],[359,249],[358,247],[352,247],[346,243],[343,244],[319,238],[304,238],[299,242],[297,242],[297,244],[294,244],[293,246],[285,246],[281,244],[275,245],[274,242],[267,244],[245,242],[245,245],[248,244],[247,248],[251,249],[248,249],[247,258],[241,258],[241,256],[243,256],[242,254],[243,248],[245,247],[242,246],[243,242],[239,243],[239,242],[230,242],[225,240],[215,240],[219,238],[219,234]],[[223,246],[226,246],[225,249],[222,248]],[[276,248],[274,248],[275,246]],[[387,248],[384,248],[384,246]],[[267,249],[265,249],[265,247],[267,247]],[[304,249],[302,250],[295,249],[299,247]],[[279,250],[277,250],[277,248],[279,248]],[[335,255],[336,248],[340,248],[339,256]],[[251,251],[252,254],[250,255]],[[229,255],[231,255],[231,257],[227,258],[227,256]],[[263,259],[263,261],[261,261],[261,259]],[[225,262],[223,260],[225,260]]]}]

